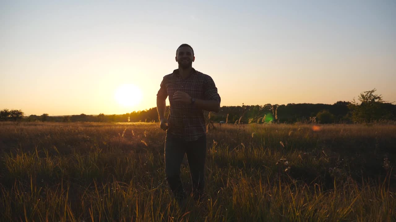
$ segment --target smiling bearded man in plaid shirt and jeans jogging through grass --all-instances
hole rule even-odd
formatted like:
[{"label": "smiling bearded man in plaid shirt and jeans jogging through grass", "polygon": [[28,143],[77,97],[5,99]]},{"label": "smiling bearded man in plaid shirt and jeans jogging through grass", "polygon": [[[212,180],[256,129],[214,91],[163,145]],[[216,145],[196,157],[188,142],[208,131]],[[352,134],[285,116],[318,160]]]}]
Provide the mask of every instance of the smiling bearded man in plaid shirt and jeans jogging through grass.
[{"label": "smiling bearded man in plaid shirt and jeans jogging through grass", "polygon": [[[206,126],[204,110],[219,112],[220,96],[213,79],[192,68],[194,50],[182,44],[176,50],[179,68],[164,76],[157,94],[160,127],[166,130],[165,174],[169,187],[179,203],[186,194],[180,180],[180,166],[187,154],[192,194],[199,199],[204,189]],[[165,119],[166,98],[170,113]]]}]

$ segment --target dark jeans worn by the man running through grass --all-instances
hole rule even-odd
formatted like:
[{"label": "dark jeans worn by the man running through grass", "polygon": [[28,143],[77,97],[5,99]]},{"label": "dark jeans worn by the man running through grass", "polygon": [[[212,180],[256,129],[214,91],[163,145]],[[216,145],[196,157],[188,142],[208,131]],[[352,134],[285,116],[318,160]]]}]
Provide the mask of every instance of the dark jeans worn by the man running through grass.
[{"label": "dark jeans worn by the man running through grass", "polygon": [[196,141],[184,141],[172,134],[165,140],[165,174],[171,191],[177,199],[184,199],[185,193],[180,180],[180,166],[184,154],[187,154],[192,181],[192,193],[198,197],[204,190],[204,169],[206,159],[206,135]]}]

